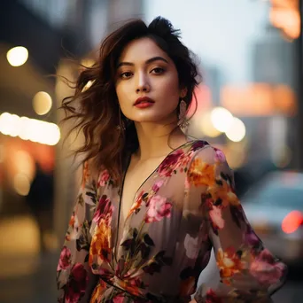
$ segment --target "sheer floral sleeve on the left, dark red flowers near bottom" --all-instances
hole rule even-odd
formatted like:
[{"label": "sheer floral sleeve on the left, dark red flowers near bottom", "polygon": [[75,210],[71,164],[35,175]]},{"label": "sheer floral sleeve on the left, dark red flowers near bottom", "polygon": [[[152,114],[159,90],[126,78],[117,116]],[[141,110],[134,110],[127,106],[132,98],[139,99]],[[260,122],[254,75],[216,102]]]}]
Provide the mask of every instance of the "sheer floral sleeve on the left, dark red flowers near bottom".
[{"label": "sheer floral sleeve on the left, dark red flowers near bottom", "polygon": [[58,302],[87,302],[96,284],[89,268],[90,224],[97,203],[97,183],[85,163],[82,186],[68,224],[65,243],[58,260]]}]

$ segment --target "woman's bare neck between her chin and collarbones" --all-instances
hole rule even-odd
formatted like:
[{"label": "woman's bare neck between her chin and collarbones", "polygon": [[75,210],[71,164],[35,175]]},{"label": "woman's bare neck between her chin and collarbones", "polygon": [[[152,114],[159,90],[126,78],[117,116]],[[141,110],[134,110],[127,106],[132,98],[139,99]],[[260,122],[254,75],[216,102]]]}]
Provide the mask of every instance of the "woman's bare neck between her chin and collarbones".
[{"label": "woman's bare neck between her chin and collarbones", "polygon": [[[139,160],[161,158],[188,140],[176,124],[135,123],[139,141]],[[175,129],[175,130],[174,130]],[[174,132],[172,132],[174,130]]]}]

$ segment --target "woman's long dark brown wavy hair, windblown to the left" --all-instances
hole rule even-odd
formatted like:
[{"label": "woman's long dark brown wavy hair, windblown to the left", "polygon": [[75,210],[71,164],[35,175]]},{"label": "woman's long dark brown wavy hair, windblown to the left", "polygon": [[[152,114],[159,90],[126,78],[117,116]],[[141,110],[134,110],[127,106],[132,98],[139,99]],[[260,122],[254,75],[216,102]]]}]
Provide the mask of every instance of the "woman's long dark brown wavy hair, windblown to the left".
[{"label": "woman's long dark brown wavy hair, windblown to the left", "polygon": [[[126,155],[136,151],[138,139],[134,123],[129,123],[120,112],[120,105],[115,90],[116,69],[121,52],[131,41],[149,37],[159,48],[167,53],[175,63],[180,87],[187,89],[183,97],[187,108],[192,100],[197,99],[194,89],[198,86],[198,67],[195,56],[180,42],[180,31],[162,17],[146,25],[142,19],[128,21],[101,43],[97,63],[82,70],[75,82],[74,96],[62,101],[61,109],[66,118],[75,120],[74,129],[84,135],[82,147],[76,154],[84,153],[83,161],[99,171],[107,169],[115,183],[121,182]],[[89,89],[84,89],[92,82]],[[121,125],[126,125],[123,129]]]}]

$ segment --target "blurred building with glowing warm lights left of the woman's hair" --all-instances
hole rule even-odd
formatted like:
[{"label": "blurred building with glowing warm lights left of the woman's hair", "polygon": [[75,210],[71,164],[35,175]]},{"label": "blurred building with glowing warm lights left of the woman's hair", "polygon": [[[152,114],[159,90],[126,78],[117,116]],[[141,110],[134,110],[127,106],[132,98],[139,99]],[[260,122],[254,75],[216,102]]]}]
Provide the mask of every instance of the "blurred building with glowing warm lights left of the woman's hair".
[{"label": "blurred building with glowing warm lights left of the woman's hair", "polygon": [[[79,185],[58,106],[73,94],[106,32],[142,13],[140,0],[12,0],[0,10],[0,215],[24,214],[35,163],[55,175],[54,229],[62,238]],[[15,47],[19,47],[14,49]],[[24,62],[19,64],[22,56]],[[21,59],[22,60],[22,59]],[[77,142],[75,143],[77,144]],[[74,173],[71,174],[71,172]]]}]

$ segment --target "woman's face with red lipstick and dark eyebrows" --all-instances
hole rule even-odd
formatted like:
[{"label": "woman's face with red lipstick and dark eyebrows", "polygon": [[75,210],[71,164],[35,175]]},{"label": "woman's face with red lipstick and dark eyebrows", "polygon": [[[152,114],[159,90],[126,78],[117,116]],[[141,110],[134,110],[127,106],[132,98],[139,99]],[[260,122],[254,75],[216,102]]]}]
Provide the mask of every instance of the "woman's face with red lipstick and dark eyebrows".
[{"label": "woman's face with red lipstick and dark eyebrows", "polygon": [[[179,88],[174,62],[150,38],[140,38],[121,53],[116,93],[122,113],[135,122],[167,123],[176,120]],[[140,99],[141,98],[141,99]]]}]

